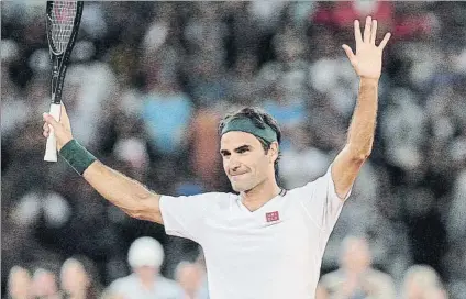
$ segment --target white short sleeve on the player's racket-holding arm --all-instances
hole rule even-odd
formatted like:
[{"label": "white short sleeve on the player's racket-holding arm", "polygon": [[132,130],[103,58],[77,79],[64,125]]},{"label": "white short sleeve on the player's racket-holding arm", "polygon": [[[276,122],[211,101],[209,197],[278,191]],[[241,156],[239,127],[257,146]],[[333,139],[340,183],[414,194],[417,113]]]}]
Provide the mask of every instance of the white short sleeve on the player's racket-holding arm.
[{"label": "white short sleeve on the player's racket-holding arm", "polygon": [[204,217],[217,202],[226,193],[202,193],[196,196],[162,196],[160,213],[164,220],[165,232],[169,235],[190,239],[199,243],[202,233]]}]

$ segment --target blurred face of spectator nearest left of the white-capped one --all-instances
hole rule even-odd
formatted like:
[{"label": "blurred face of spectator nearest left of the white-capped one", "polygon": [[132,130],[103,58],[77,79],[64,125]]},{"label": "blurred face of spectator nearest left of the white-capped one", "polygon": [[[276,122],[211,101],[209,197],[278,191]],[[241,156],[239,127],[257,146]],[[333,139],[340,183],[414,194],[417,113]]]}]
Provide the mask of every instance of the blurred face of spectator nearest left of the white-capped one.
[{"label": "blurred face of spectator nearest left of the white-capped one", "polygon": [[62,288],[70,294],[86,289],[90,281],[82,265],[79,262],[69,262],[62,268]]}]

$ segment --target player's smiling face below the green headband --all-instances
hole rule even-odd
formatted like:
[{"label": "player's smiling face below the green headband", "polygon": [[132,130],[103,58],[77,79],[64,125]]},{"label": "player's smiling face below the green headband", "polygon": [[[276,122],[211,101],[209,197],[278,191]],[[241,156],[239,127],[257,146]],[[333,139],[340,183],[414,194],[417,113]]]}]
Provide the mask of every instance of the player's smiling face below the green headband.
[{"label": "player's smiling face below the green headband", "polygon": [[274,162],[278,144],[265,153],[260,142],[249,133],[232,131],[220,141],[223,169],[236,192],[249,191],[267,179],[275,179]]}]

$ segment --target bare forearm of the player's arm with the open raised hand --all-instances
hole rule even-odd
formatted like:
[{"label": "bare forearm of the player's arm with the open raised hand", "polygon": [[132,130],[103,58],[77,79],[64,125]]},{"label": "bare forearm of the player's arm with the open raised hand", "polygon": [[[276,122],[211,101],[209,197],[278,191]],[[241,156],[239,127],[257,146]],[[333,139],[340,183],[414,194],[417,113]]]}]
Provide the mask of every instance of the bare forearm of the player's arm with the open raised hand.
[{"label": "bare forearm of the player's arm with the open raised hand", "polygon": [[347,147],[355,157],[367,158],[371,152],[377,119],[377,101],[378,80],[362,78],[347,137]]}]

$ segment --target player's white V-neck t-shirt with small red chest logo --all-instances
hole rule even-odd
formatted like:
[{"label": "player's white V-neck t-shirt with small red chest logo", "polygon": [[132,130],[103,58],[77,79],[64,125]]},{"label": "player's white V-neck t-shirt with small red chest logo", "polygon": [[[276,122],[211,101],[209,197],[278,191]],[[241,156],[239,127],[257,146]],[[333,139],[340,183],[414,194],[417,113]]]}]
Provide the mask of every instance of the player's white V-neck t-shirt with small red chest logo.
[{"label": "player's white V-neck t-shirt with small red chest logo", "polygon": [[312,299],[343,207],[330,169],[253,212],[233,193],[163,196],[165,231],[202,246],[211,299]]}]

